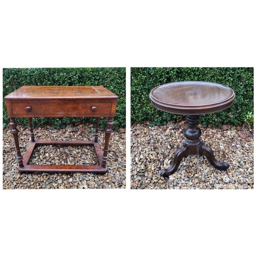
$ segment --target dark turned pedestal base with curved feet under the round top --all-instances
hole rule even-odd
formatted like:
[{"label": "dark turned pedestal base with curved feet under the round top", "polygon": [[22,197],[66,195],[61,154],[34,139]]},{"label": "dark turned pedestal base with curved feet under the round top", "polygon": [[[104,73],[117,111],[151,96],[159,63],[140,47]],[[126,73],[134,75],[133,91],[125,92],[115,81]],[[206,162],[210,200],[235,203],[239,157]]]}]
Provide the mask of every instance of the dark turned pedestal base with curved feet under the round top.
[{"label": "dark turned pedestal base with curved feet under the round top", "polygon": [[209,146],[204,145],[201,141],[201,130],[198,127],[199,116],[198,115],[187,115],[186,116],[187,127],[184,130],[185,140],[183,146],[179,148],[174,154],[173,163],[167,169],[160,170],[160,175],[163,177],[168,177],[172,175],[179,167],[179,164],[183,157],[195,156],[195,155],[205,155],[208,161],[214,165],[217,169],[226,170],[229,164],[224,162],[218,162],[215,159],[214,153]]}]

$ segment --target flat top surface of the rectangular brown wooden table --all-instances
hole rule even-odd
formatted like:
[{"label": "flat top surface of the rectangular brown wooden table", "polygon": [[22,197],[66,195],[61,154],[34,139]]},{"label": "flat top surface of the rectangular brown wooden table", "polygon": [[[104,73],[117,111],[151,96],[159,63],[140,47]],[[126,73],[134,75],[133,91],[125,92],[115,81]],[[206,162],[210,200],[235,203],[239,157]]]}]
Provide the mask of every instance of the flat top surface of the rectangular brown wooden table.
[{"label": "flat top surface of the rectangular brown wooden table", "polygon": [[102,86],[23,86],[6,99],[117,99]]}]

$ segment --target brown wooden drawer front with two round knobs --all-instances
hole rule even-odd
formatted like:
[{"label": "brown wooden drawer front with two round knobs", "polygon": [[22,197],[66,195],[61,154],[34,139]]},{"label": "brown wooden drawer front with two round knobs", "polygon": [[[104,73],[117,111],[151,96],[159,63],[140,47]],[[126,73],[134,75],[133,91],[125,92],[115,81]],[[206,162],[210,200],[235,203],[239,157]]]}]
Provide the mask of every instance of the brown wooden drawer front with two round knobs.
[{"label": "brown wooden drawer front with two round knobs", "polygon": [[111,114],[112,103],[12,103],[13,115],[94,116]]}]

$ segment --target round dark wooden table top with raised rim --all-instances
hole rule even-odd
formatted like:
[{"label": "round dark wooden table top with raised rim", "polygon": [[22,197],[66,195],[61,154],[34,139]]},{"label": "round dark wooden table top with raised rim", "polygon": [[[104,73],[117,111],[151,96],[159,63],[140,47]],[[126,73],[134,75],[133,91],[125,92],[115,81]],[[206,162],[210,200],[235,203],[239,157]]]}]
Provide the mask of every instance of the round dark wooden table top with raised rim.
[{"label": "round dark wooden table top with raised rim", "polygon": [[156,108],[181,115],[218,112],[232,105],[235,97],[234,91],[223,84],[202,81],[166,83],[150,93]]}]

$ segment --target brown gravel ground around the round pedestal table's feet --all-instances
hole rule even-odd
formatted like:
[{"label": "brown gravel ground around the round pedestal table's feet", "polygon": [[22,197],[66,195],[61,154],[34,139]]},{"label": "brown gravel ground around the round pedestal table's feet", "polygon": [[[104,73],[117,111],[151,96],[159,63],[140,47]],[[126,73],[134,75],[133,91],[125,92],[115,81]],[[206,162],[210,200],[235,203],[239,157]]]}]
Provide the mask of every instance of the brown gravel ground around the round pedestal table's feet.
[{"label": "brown gravel ground around the round pedestal table's feet", "polygon": [[131,134],[132,189],[251,189],[253,188],[253,130],[223,125],[202,128],[202,139],[218,161],[230,167],[220,171],[202,156],[183,158],[173,175],[163,178],[159,170],[169,167],[182,145],[185,121],[165,126],[135,124]]}]

